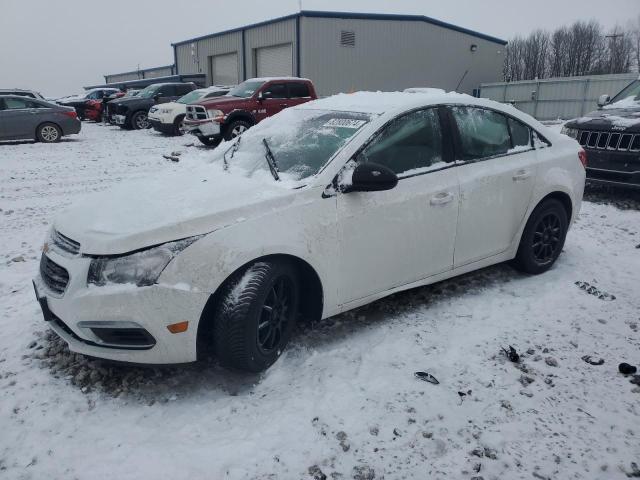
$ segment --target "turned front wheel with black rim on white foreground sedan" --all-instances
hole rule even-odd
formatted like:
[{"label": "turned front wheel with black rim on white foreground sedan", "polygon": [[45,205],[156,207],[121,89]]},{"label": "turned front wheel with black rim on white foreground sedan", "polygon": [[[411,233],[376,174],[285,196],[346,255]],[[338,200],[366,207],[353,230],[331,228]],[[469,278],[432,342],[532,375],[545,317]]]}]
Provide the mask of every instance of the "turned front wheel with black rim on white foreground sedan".
[{"label": "turned front wheel with black rim on white foreground sedan", "polygon": [[213,345],[228,368],[269,368],[291,338],[298,316],[298,273],[287,261],[257,262],[227,283],[216,306]]}]

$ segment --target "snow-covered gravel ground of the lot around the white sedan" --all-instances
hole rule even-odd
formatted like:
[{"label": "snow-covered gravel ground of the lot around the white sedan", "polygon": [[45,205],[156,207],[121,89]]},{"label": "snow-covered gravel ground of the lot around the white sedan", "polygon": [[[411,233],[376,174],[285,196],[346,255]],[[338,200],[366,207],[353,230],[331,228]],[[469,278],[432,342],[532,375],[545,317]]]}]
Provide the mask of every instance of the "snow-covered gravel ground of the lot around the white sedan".
[{"label": "snow-covered gravel ground of the lot around the white sedan", "polygon": [[0,144],[0,478],[617,479],[640,465],[640,376],[617,373],[640,364],[635,210],[584,203],[547,274],[500,265],[330,318],[261,376],[71,354],[30,283],[48,222],[210,154],[191,142],[85,123],[57,145]]}]

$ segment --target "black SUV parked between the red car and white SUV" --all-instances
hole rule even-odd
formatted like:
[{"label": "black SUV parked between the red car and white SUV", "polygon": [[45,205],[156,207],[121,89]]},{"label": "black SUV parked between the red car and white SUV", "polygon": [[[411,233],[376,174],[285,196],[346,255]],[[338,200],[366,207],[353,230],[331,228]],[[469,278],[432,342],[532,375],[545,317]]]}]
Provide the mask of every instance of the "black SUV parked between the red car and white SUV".
[{"label": "black SUV parked between the red car and white SUV", "polygon": [[195,83],[154,83],[135,97],[121,98],[113,103],[113,120],[126,129],[149,128],[149,109],[154,105],[169,103],[195,90]]}]

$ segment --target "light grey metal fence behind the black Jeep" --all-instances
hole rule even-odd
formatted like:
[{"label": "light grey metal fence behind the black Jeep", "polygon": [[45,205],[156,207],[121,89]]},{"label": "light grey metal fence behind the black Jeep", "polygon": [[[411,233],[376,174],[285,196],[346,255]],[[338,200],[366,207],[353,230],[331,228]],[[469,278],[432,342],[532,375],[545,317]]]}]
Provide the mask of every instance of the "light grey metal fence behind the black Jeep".
[{"label": "light grey metal fence behind the black Jeep", "polygon": [[483,83],[480,96],[511,103],[538,120],[580,117],[598,108],[598,97],[612,97],[638,78],[637,73]]}]

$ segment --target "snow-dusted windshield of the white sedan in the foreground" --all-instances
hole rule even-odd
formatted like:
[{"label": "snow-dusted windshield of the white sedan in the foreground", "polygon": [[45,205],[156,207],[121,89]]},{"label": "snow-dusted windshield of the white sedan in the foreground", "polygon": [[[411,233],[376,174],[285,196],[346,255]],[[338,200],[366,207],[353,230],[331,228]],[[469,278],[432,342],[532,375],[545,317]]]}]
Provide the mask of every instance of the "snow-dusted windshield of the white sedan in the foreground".
[{"label": "snow-dusted windshield of the white sedan in the foreground", "polygon": [[370,119],[354,112],[285,110],[245,132],[238,145],[238,140],[220,145],[213,161],[224,163],[226,155],[230,171],[269,174],[266,140],[280,177],[302,180],[317,174]]}]

